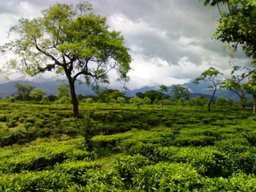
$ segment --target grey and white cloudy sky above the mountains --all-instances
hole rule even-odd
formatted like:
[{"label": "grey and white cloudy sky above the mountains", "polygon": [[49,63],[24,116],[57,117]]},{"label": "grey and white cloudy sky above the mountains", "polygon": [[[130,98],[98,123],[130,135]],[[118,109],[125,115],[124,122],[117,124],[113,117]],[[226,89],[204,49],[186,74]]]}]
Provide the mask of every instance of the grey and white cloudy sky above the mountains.
[{"label": "grey and white cloudy sky above the mountains", "polygon": [[[8,41],[10,26],[21,17],[40,16],[54,3],[77,0],[8,0],[0,4],[0,44]],[[130,89],[142,86],[188,83],[209,67],[228,77],[232,67],[248,65],[241,52],[235,58],[223,51],[223,44],[212,40],[218,12],[198,0],[91,0],[95,13],[105,16],[111,30],[121,31],[132,56]],[[0,58],[4,65],[4,58]],[[234,65],[234,64],[233,64]],[[14,76],[15,77],[15,76]],[[14,78],[13,77],[13,78]],[[111,87],[116,84],[111,73]]]}]

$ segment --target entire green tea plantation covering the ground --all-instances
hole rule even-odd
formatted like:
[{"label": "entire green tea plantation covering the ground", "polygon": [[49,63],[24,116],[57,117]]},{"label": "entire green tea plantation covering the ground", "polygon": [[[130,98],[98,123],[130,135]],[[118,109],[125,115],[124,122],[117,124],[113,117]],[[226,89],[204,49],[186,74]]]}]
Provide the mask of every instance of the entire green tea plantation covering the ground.
[{"label": "entire green tea plantation covering the ground", "polygon": [[251,109],[71,107],[0,102],[0,191],[256,191]]}]

